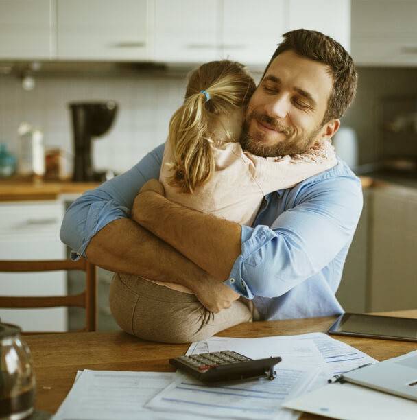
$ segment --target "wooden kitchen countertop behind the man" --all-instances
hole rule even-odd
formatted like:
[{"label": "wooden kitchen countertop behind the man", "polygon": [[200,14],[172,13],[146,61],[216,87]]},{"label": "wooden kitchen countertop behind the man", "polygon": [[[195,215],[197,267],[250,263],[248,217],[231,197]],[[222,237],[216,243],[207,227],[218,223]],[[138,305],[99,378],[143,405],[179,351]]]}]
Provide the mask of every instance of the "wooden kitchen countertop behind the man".
[{"label": "wooden kitchen countertop behind the man", "polygon": [[[370,187],[374,180],[361,176],[362,188]],[[89,189],[98,187],[100,183],[74,183],[67,181],[29,182],[21,179],[0,180],[0,201],[56,200],[64,194],[83,194]]]}]

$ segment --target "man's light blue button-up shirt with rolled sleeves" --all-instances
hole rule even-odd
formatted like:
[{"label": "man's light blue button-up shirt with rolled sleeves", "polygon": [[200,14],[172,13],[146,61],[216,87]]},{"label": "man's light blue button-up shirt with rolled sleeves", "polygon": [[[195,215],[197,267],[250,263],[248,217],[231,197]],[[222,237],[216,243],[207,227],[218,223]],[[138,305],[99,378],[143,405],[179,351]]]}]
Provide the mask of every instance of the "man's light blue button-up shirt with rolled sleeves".
[{"label": "man's light blue button-up shirt with rolled sleeves", "polygon": [[[164,145],[122,175],[87,191],[67,210],[60,237],[85,257],[91,238],[130,214],[142,185],[159,178]],[[335,297],[362,209],[359,178],[343,161],[295,187],[265,196],[252,227],[242,226],[241,255],[224,282],[254,299],[265,320],[343,312]]]}]

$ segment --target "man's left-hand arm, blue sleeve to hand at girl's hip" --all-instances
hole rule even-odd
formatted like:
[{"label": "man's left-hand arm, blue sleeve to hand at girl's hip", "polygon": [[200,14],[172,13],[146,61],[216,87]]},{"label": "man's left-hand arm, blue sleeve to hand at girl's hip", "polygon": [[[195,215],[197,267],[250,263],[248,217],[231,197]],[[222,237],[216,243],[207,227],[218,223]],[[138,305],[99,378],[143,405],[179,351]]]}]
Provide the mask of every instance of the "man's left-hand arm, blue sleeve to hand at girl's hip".
[{"label": "man's left-hand arm, blue sleeve to hand at girl's hip", "polygon": [[73,249],[73,259],[83,256],[111,271],[182,284],[208,310],[218,312],[239,295],[128,218],[138,191],[158,177],[162,155],[163,145],[75,200],[62,222],[61,240]]}]

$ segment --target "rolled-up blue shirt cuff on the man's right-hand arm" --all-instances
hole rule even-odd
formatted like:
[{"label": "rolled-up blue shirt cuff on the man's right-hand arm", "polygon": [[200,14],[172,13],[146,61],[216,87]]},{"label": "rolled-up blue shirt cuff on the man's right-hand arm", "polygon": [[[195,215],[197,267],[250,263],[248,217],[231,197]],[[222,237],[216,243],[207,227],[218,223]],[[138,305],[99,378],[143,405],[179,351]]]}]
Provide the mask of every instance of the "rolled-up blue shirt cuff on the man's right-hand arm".
[{"label": "rolled-up blue shirt cuff on the man's right-hand arm", "polygon": [[233,264],[232,271],[224,285],[228,285],[235,292],[246,297],[246,299],[253,299],[255,295],[250,289],[250,279],[243,279],[242,271],[245,264],[254,267],[260,264],[265,253],[257,252],[260,248],[269,243],[276,234],[268,226],[259,225],[255,228],[249,226],[242,226],[241,229],[241,255],[237,257],[235,264]]}]

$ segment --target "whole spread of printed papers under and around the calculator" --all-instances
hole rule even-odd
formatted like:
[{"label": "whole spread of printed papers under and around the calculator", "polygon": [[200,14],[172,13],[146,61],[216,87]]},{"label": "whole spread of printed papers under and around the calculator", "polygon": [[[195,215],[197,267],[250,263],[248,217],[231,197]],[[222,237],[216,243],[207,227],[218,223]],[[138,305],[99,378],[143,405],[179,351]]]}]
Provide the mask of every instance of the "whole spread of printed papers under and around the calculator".
[{"label": "whole spread of printed papers under and around the calculator", "polygon": [[296,419],[285,401],[320,388],[333,374],[374,362],[326,334],[219,338],[187,355],[232,350],[259,359],[279,355],[277,377],[206,386],[181,373],[82,371],[55,419]]}]

